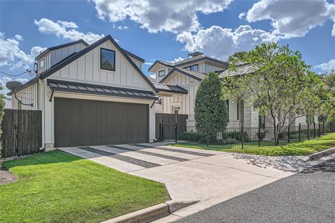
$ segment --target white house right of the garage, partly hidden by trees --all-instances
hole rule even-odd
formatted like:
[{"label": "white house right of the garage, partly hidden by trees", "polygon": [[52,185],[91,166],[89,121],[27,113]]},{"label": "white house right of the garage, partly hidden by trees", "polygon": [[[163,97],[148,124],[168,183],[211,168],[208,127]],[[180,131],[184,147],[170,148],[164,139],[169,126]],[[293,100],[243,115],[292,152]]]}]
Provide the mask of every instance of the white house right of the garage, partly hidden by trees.
[{"label": "white house right of the garage, partly hidden by trees", "polygon": [[[156,88],[161,86],[178,86],[179,91],[170,91],[158,94],[159,104],[156,104],[156,112],[168,114],[188,114],[187,125],[195,126],[194,106],[195,95],[200,82],[209,71],[218,73],[218,77],[223,78],[226,75],[244,75],[258,69],[257,66],[243,65],[237,66],[237,69],[228,71],[228,63],[218,59],[205,56],[201,52],[188,54],[188,59],[177,63],[167,61],[156,61],[149,72],[156,73]],[[251,106],[241,101],[227,100],[229,123],[228,128],[258,128],[259,125],[271,127],[267,118],[260,116]],[[293,125],[299,123],[311,122],[313,117],[304,116],[297,118]],[[313,120],[317,121],[315,117]]]}]

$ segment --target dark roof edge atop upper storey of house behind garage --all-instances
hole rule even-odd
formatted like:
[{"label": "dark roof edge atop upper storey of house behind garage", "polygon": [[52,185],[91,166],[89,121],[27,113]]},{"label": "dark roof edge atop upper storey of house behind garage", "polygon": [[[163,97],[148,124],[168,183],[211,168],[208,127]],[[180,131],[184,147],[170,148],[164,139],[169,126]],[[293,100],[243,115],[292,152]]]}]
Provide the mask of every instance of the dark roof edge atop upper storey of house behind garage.
[{"label": "dark roof edge atop upper storey of house behind garage", "polygon": [[195,63],[198,61],[211,61],[214,63],[220,63],[221,65],[225,66],[225,68],[228,68],[228,63],[225,63],[224,61],[220,61],[218,59],[214,59],[213,57],[210,56],[204,56],[204,54],[198,54],[197,56],[193,56],[191,58],[188,59],[184,59],[182,61],[178,61],[176,63],[170,63],[167,61],[155,61],[155,63],[153,63],[150,68],[148,69],[148,71],[150,71],[152,68],[154,68],[154,66],[157,63],[161,63],[163,66],[167,66],[169,68],[174,68],[174,67],[179,67],[179,66],[183,66],[183,65],[187,65],[188,63]]}]

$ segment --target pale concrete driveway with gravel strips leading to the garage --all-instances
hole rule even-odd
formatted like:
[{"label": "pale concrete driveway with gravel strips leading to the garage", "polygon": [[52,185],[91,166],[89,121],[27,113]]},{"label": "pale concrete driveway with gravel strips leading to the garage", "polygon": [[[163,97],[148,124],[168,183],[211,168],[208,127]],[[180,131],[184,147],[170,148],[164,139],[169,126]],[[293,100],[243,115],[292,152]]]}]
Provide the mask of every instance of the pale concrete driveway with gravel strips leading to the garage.
[{"label": "pale concrete driveway with gravel strips leading to the garage", "polygon": [[173,200],[199,201],[161,222],[191,215],[295,174],[306,166],[306,157],[265,157],[163,144],[59,149],[128,174],[165,183]]}]

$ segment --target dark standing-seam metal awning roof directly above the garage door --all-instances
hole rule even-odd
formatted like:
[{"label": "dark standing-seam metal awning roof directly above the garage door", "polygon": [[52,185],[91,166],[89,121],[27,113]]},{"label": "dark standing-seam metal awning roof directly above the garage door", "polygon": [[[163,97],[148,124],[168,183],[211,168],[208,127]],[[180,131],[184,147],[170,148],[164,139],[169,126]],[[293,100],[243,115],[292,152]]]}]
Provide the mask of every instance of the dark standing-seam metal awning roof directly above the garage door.
[{"label": "dark standing-seam metal awning roof directly above the garage door", "polygon": [[47,79],[47,86],[49,86],[52,91],[88,93],[94,95],[107,95],[122,98],[140,98],[147,100],[158,99],[156,94],[152,91],[140,91],[135,89],[125,89],[113,86],[86,84],[80,82],[67,82],[57,79]]}]

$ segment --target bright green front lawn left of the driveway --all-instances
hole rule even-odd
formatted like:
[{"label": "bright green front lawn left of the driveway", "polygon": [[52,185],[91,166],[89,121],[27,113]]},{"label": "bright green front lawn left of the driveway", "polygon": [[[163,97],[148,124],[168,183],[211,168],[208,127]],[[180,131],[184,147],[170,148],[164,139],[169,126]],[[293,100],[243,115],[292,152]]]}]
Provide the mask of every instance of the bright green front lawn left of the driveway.
[{"label": "bright green front lawn left of the driveway", "polygon": [[101,222],[168,199],[162,183],[61,151],[3,162],[0,222]]}]

